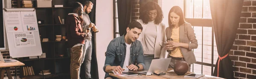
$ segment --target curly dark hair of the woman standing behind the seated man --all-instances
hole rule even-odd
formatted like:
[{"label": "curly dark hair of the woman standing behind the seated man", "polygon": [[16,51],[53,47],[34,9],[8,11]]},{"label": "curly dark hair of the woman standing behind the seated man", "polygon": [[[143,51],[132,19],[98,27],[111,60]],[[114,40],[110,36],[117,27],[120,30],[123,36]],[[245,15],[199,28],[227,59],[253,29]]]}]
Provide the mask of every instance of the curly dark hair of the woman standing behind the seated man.
[{"label": "curly dark hair of the woman standing behind the seated man", "polygon": [[140,18],[143,21],[143,23],[148,24],[148,21],[149,21],[148,12],[155,9],[157,9],[157,17],[154,23],[158,25],[159,23],[162,22],[163,11],[161,7],[155,2],[148,2],[143,7],[140,8]]}]

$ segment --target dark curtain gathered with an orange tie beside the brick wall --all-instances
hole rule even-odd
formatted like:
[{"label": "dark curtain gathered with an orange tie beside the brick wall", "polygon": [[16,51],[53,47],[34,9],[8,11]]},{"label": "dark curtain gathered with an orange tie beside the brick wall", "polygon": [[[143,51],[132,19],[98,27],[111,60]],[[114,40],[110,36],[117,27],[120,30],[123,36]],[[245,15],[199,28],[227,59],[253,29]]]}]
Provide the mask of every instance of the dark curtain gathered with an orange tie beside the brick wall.
[{"label": "dark curtain gathered with an orange tie beside the brick wall", "polygon": [[236,37],[243,2],[244,0],[210,0],[212,24],[219,55],[213,76],[233,79],[233,64],[228,52]]}]

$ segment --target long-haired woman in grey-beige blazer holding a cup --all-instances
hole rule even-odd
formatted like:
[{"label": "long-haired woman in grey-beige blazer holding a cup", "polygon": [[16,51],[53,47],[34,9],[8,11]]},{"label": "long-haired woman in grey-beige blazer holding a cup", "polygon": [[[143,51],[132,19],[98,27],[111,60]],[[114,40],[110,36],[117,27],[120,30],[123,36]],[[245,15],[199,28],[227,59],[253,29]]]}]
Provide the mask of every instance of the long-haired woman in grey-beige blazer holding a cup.
[{"label": "long-haired woman in grey-beige blazer holding a cup", "polygon": [[174,68],[178,61],[186,61],[189,64],[195,63],[195,54],[192,49],[198,48],[194,29],[190,23],[186,23],[183,16],[183,11],[179,6],[174,6],[169,11],[169,27],[166,28],[166,50],[169,52],[168,57],[172,58],[169,67]]}]

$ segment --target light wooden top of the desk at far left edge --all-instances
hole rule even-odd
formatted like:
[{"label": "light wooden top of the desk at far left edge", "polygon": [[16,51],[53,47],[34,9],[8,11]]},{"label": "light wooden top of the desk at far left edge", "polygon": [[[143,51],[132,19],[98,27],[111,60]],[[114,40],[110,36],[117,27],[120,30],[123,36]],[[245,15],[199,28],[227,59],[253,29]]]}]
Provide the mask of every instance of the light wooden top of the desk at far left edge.
[{"label": "light wooden top of the desk at far left edge", "polygon": [[20,62],[20,61],[17,61],[17,62],[8,62],[8,63],[4,63],[4,62],[0,61],[0,68],[21,66],[21,65],[25,65],[25,64],[22,63],[22,62]]}]

